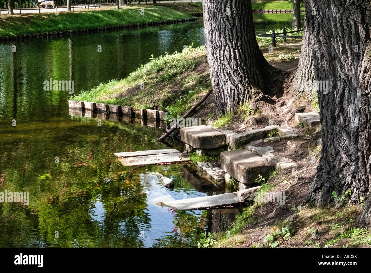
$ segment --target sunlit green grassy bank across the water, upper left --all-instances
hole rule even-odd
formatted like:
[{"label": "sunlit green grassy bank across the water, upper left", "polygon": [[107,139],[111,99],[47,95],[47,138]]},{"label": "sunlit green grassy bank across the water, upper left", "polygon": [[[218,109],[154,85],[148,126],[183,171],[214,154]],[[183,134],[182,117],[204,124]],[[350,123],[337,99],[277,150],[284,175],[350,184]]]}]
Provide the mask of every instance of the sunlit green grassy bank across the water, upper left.
[{"label": "sunlit green grassy bank across the water, upper left", "polygon": [[[144,14],[141,14],[144,9]],[[60,30],[120,26],[189,18],[190,15],[162,6],[140,5],[121,9],[22,14],[0,16],[0,36],[43,33]]]}]

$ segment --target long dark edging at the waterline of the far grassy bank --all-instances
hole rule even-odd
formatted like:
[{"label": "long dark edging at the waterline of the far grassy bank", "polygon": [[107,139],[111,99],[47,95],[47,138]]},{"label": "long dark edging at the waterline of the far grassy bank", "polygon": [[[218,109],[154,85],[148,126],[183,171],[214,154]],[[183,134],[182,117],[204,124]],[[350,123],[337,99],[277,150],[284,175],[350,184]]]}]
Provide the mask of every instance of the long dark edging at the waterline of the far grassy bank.
[{"label": "long dark edging at the waterline of the far grassy bank", "polygon": [[60,30],[60,31],[44,32],[44,33],[32,33],[32,34],[21,34],[21,35],[13,35],[13,36],[1,36],[0,40],[2,42],[14,41],[14,40],[26,40],[26,39],[33,39],[33,38],[39,38],[39,37],[51,37],[51,36],[58,36],[58,35],[59,36],[72,35],[72,34],[75,34],[75,33],[95,33],[95,32],[102,32],[102,31],[106,31],[106,30],[119,30],[119,29],[132,29],[132,28],[135,29],[135,28],[139,28],[139,27],[171,25],[171,24],[194,22],[194,21],[197,21],[196,17],[186,18],[186,19],[177,19],[177,20],[137,23],[137,24],[121,25],[121,26],[104,26],[104,27],[93,27],[93,28],[88,28],[88,29]]}]

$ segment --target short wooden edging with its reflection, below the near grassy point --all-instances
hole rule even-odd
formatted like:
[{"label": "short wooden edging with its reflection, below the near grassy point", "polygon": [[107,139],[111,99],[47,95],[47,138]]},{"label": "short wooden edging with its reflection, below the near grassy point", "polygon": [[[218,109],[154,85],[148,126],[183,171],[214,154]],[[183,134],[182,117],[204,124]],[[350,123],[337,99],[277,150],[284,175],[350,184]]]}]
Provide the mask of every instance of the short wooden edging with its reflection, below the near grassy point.
[{"label": "short wooden edging with its reflection, below the near grassy point", "polygon": [[89,101],[68,101],[70,116],[98,118],[101,120],[124,121],[155,128],[165,128],[167,112],[153,109],[139,109],[129,106],[92,103]]}]

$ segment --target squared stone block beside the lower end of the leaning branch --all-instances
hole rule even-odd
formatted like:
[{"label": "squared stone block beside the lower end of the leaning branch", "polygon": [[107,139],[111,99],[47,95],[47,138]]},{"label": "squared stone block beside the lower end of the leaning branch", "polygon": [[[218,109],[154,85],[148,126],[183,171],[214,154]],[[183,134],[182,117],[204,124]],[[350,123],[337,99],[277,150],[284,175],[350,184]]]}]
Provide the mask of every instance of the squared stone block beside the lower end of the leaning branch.
[{"label": "squared stone block beside the lower end of the leaning branch", "polygon": [[226,145],[223,133],[204,125],[182,128],[180,136],[183,142],[196,149],[215,149]]}]

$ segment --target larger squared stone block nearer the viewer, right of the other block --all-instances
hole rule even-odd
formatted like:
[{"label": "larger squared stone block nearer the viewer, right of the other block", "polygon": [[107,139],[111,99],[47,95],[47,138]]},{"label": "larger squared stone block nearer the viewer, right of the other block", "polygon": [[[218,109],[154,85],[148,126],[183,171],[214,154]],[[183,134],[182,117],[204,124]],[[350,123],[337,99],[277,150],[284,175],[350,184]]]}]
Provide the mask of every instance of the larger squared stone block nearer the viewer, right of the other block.
[{"label": "larger squared stone block nearer the viewer, right of the other block", "polygon": [[267,160],[246,149],[222,152],[220,161],[221,169],[245,185],[254,184],[259,175],[266,178],[273,169]]}]

